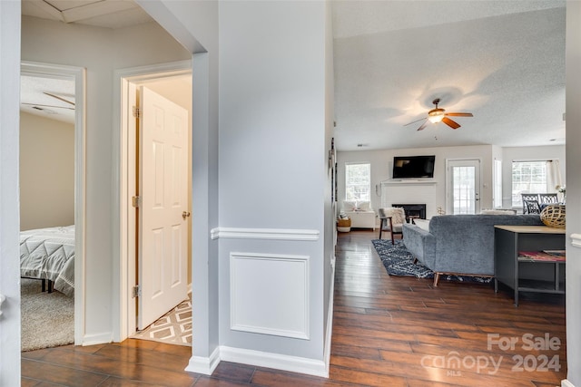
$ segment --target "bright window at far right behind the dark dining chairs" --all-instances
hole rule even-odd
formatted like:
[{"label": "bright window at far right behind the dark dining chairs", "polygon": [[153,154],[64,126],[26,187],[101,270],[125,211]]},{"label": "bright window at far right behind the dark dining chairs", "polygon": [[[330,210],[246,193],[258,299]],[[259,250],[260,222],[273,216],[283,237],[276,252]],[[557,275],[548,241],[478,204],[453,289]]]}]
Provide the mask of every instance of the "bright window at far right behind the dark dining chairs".
[{"label": "bright window at far right behind the dark dining chairs", "polygon": [[547,161],[512,162],[513,207],[522,207],[522,193],[547,193]]}]

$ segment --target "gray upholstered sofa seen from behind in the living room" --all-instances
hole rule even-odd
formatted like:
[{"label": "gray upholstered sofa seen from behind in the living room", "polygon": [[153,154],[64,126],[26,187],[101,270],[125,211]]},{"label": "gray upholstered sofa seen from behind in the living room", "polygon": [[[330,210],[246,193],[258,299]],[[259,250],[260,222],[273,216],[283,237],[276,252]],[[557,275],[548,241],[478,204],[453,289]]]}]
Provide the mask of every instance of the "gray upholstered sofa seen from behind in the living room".
[{"label": "gray upholstered sofa seen from behind in the living room", "polygon": [[434,272],[494,276],[494,226],[542,226],[538,215],[441,215],[429,220],[428,231],[403,225],[409,252]]}]

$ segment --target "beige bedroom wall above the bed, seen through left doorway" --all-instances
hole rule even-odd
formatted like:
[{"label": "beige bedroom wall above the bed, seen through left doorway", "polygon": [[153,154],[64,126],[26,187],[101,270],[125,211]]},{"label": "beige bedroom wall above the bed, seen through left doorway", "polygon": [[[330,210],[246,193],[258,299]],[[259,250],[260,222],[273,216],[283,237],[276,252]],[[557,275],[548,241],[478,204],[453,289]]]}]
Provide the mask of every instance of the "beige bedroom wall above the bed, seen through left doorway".
[{"label": "beige bedroom wall above the bed, seen through left doorway", "polygon": [[74,124],[20,114],[20,229],[74,225]]}]

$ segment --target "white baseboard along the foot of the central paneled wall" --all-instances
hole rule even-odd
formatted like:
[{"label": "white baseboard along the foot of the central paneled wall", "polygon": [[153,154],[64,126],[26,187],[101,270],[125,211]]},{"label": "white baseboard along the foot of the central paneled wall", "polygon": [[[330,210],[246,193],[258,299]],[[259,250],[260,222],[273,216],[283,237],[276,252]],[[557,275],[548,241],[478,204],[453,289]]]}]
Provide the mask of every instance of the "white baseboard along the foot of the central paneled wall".
[{"label": "white baseboard along the foot of the central paneled wall", "polygon": [[225,362],[255,365],[275,370],[299,372],[307,375],[329,377],[325,362],[281,353],[265,353],[241,348],[220,347],[220,358]]}]

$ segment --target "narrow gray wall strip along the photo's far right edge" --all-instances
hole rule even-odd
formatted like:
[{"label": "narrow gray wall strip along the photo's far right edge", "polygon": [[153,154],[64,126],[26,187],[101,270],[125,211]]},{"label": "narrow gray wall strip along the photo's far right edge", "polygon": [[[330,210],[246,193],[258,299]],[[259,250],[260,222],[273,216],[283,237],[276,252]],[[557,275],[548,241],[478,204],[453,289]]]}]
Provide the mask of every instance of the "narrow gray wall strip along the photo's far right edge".
[{"label": "narrow gray wall strip along the photo's far right edge", "polygon": [[581,234],[581,3],[566,2],[566,363],[567,380],[581,386],[581,249],[568,242]]}]

